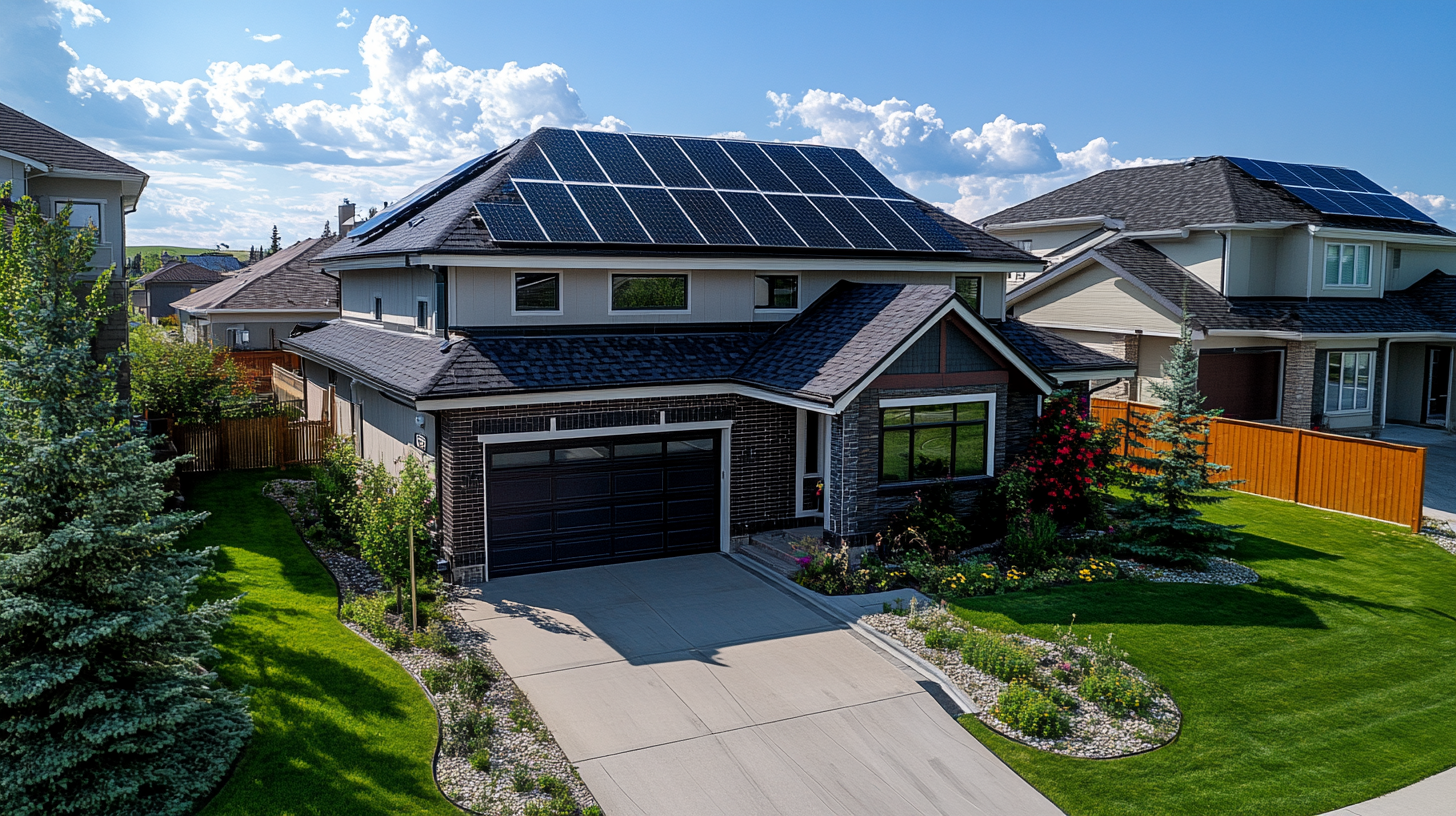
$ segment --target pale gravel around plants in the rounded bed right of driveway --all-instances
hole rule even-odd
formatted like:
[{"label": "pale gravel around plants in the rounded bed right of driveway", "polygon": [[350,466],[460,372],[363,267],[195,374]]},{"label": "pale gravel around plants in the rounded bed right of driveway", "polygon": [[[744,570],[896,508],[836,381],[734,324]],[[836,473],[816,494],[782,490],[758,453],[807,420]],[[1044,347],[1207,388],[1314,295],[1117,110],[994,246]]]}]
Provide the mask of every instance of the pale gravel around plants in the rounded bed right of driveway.
[{"label": "pale gravel around plants in the rounded bed right of driveway", "polygon": [[[1139,717],[1136,714],[1115,717],[1102,711],[1102,708],[1096,704],[1082,701],[1075,685],[1051,680],[1057,685],[1057,688],[1079,699],[1079,705],[1067,713],[1072,720],[1072,731],[1060,739],[1042,739],[1024,734],[992,715],[992,710],[996,707],[996,698],[1009,683],[999,680],[974,666],[968,666],[964,660],[961,660],[961,654],[958,651],[930,648],[925,646],[925,634],[911,629],[909,625],[911,616],[929,616],[935,619],[941,628],[984,631],[976,627],[968,627],[960,618],[941,609],[914,609],[910,615],[866,615],[860,618],[860,622],[895,638],[904,644],[906,648],[939,667],[980,707],[980,713],[974,714],[974,717],[977,717],[981,723],[986,723],[986,726],[993,731],[1008,739],[1066,756],[1077,756],[1083,759],[1115,759],[1120,756],[1133,756],[1136,753],[1147,753],[1149,750],[1159,749],[1178,739],[1178,734],[1182,731],[1182,711],[1179,711],[1178,704],[1174,702],[1172,697],[1158,686],[1155,686],[1153,704],[1146,717]],[[1042,650],[1044,656],[1040,660],[1040,666],[1047,670],[1050,678],[1050,669],[1060,657],[1060,647],[1054,643],[1026,635],[1013,634],[1009,637],[1022,644]],[[1088,653],[1085,647],[1075,648],[1079,653]],[[1124,667],[1128,673],[1137,678],[1144,678],[1144,675],[1136,667],[1125,663]]]}]

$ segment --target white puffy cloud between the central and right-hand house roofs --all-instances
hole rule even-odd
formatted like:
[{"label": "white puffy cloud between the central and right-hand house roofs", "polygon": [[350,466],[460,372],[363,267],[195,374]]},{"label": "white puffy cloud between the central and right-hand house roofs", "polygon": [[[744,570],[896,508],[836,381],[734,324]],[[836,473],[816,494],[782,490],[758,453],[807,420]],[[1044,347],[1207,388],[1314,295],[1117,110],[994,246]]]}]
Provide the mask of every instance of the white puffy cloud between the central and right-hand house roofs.
[{"label": "white puffy cloud between the central and right-hand house roofs", "polygon": [[855,147],[909,189],[930,184],[952,187],[958,198],[939,203],[974,220],[1092,173],[1158,159],[1118,159],[1107,138],[1061,152],[1044,124],[999,115],[976,127],[951,127],[932,105],[903,99],[869,103],[827,90],[810,90],[795,102],[789,93],[767,93],[770,127],[801,125],[817,131],[805,141]]}]

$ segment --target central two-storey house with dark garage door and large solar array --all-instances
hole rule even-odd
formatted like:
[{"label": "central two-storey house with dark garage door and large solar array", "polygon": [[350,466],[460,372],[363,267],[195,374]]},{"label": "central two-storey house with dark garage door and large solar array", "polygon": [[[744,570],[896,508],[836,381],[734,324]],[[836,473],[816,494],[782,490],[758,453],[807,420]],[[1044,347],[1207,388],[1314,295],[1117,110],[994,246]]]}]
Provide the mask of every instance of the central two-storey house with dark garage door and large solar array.
[{"label": "central two-storey house with dark garage door and large solar array", "polygon": [[437,465],[462,580],[866,544],[930,479],[974,495],[1053,389],[1133,374],[1005,321],[1042,262],[849,149],[542,128],[314,262],[309,412]]}]

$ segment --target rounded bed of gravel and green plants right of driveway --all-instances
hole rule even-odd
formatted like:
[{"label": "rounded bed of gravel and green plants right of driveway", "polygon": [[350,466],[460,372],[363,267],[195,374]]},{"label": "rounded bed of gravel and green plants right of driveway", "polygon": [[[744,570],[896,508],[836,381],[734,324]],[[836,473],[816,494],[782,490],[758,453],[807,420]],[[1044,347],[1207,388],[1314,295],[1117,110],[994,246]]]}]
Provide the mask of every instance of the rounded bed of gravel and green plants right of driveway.
[{"label": "rounded bed of gravel and green plants right of driveway", "polygon": [[914,605],[862,622],[938,666],[992,730],[1041,750],[1128,756],[1172,742],[1182,724],[1166,691],[1130,666],[1111,637],[1077,640],[1070,627],[1057,641],[1003,635]]}]

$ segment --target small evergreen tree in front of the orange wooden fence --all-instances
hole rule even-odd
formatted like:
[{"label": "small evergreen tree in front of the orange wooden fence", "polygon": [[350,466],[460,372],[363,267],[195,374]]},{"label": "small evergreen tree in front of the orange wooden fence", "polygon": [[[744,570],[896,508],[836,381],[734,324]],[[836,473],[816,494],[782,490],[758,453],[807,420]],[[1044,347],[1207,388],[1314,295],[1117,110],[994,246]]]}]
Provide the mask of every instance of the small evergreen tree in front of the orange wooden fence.
[{"label": "small evergreen tree in front of the orange wooden fence", "polygon": [[1198,351],[1184,318],[1163,380],[1152,382],[1162,405],[1124,423],[1133,507],[1127,548],[1140,557],[1207,567],[1207,557],[1233,548],[1238,526],[1217,525],[1198,507],[1227,500],[1236,481],[1214,481],[1227,465],[1207,460],[1208,425],[1220,411],[1204,409],[1198,393]]}]

